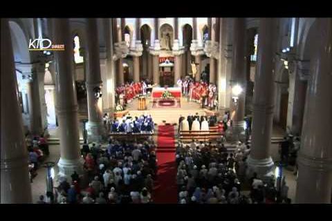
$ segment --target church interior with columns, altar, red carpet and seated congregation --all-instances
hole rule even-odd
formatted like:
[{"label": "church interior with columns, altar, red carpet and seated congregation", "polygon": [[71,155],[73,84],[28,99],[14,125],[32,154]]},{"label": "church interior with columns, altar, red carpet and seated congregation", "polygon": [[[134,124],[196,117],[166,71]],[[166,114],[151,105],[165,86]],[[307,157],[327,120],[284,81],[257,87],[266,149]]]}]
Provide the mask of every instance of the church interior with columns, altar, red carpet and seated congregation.
[{"label": "church interior with columns, altar, red carpet and seated congregation", "polygon": [[331,204],[331,18],[1,19],[1,204]]}]

